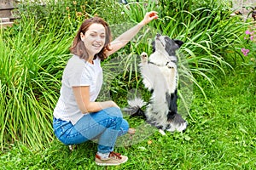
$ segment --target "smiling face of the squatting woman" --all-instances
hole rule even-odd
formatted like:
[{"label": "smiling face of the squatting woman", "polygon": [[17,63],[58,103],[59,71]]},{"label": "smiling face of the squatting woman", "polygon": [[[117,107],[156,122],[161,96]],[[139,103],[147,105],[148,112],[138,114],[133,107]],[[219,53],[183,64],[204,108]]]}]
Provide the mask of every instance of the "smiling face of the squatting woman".
[{"label": "smiling face of the squatting woman", "polygon": [[88,30],[80,35],[89,57],[98,54],[104,47],[106,41],[106,31],[102,24],[92,24]]}]

